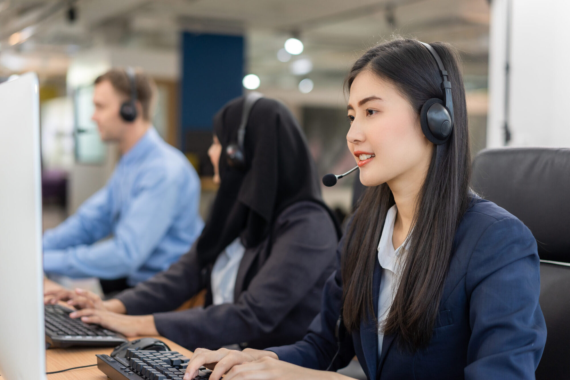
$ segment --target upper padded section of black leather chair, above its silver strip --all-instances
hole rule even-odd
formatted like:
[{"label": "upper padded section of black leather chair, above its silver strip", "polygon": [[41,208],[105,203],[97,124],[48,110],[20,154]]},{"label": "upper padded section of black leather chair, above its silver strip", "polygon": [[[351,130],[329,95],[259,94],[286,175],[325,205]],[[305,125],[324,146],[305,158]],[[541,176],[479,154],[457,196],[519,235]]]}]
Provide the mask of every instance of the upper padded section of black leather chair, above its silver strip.
[{"label": "upper padded section of black leather chair, above its silver strip", "polygon": [[570,148],[483,150],[473,190],[530,228],[541,259],[570,262]]}]

